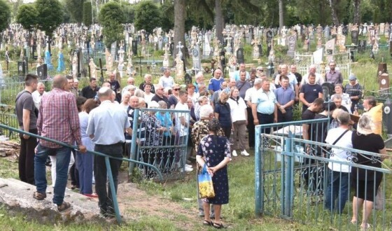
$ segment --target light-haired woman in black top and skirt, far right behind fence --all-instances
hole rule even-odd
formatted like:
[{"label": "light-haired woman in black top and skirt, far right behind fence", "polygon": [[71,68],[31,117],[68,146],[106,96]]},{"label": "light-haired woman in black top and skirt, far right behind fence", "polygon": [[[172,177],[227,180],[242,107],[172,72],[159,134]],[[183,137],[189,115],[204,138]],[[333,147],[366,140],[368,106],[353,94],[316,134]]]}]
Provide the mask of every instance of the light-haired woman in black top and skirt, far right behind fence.
[{"label": "light-haired woman in black top and skirt, far right behind fence", "polygon": [[[351,141],[353,148],[372,153],[386,155],[384,141],[379,134],[374,134],[372,119],[368,115],[363,115],[358,121],[357,131],[353,132]],[[359,165],[370,167],[381,167],[383,157],[378,158],[373,155],[357,154],[353,157],[353,162]],[[372,214],[374,195],[377,195],[377,188],[381,184],[382,173],[372,170],[366,170],[358,167],[351,169],[351,187],[354,188],[353,197],[353,217],[351,223],[358,221],[358,209],[363,207],[362,223],[360,228],[370,228],[367,220]]]}]

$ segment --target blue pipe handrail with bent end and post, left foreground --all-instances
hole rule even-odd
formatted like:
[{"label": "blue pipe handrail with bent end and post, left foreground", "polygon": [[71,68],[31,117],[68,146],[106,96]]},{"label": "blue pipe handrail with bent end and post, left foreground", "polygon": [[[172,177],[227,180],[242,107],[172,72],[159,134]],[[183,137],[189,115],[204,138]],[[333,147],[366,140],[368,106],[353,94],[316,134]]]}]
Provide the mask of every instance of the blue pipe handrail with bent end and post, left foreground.
[{"label": "blue pipe handrail with bent end and post, left foreground", "polygon": [[[21,133],[21,134],[27,134],[30,137],[36,137],[37,139],[43,139],[45,141],[50,141],[52,143],[59,144],[61,146],[67,147],[67,148],[72,148],[74,150],[78,150],[78,146],[73,146],[73,145],[70,145],[70,144],[66,144],[66,143],[63,143],[63,142],[60,142],[60,141],[56,141],[54,139],[49,139],[47,137],[41,137],[41,136],[38,136],[36,134],[32,134],[32,133],[29,133],[29,132],[25,132],[25,131],[22,131],[22,130],[15,129],[13,127],[8,127],[8,126],[3,125],[1,123],[0,123],[0,127],[3,130],[10,130],[10,131]],[[153,165],[149,165],[149,164],[144,163],[144,162],[139,162],[137,160],[130,160],[130,159],[127,159],[127,158],[114,158],[114,157],[112,157],[110,155],[106,155],[104,153],[99,153],[99,152],[96,152],[96,151],[93,151],[93,150],[88,150],[88,151],[90,153],[94,154],[94,155],[99,155],[99,156],[102,156],[102,157],[105,158],[106,169],[107,169],[107,176],[109,178],[109,185],[110,185],[110,188],[111,188],[111,196],[113,198],[113,206],[114,206],[114,211],[116,212],[116,219],[117,219],[118,223],[121,223],[122,219],[121,219],[121,216],[120,216],[120,210],[118,209],[118,201],[117,201],[116,189],[114,187],[113,175],[111,174],[111,165],[110,165],[110,162],[109,162],[109,158],[116,159],[116,160],[121,160],[121,161],[132,162],[132,163],[137,164],[137,165],[146,165],[147,167],[153,169],[156,172],[157,177],[160,180],[162,180],[162,174],[160,173],[160,170],[157,167],[153,166]]]}]

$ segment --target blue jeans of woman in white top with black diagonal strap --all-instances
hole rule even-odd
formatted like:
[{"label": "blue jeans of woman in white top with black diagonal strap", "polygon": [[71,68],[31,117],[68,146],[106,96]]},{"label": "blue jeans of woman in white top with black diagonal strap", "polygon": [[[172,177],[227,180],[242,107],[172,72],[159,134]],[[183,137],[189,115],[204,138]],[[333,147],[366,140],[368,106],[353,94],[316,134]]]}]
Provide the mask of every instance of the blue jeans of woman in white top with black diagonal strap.
[{"label": "blue jeans of woman in white top with black diagonal strap", "polygon": [[[325,209],[342,214],[346,201],[349,198],[349,172],[335,172],[328,169],[328,188],[325,193]],[[336,202],[335,202],[336,201]]]}]

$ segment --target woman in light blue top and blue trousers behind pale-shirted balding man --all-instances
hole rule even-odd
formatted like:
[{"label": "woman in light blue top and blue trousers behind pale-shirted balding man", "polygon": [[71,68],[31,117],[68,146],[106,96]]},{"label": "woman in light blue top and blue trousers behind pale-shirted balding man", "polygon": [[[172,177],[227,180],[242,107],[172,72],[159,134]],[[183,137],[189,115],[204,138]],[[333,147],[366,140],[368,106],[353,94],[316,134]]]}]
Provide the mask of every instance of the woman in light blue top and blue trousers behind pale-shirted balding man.
[{"label": "woman in light blue top and blue trousers behind pale-shirted balding man", "polygon": [[[87,150],[94,150],[94,144],[90,137],[87,136],[86,130],[88,125],[88,113],[98,106],[94,99],[87,99],[82,106],[82,111],[79,113],[80,120],[80,134],[82,136],[82,143]],[[87,197],[98,197],[97,194],[92,193],[92,167],[94,163],[94,155],[87,151],[87,153],[76,152],[76,167],[79,171],[80,193]]]}]

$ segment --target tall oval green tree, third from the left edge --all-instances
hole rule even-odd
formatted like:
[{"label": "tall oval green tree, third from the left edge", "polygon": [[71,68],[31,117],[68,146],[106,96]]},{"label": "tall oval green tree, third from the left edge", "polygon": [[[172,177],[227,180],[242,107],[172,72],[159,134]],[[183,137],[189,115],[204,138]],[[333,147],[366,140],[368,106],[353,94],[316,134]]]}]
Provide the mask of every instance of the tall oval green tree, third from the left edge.
[{"label": "tall oval green tree, third from the left edge", "polygon": [[116,1],[105,3],[99,11],[98,20],[103,27],[102,34],[106,47],[109,48],[111,43],[124,39],[122,23],[125,21],[125,16],[120,3]]}]

